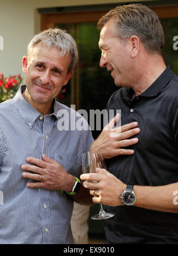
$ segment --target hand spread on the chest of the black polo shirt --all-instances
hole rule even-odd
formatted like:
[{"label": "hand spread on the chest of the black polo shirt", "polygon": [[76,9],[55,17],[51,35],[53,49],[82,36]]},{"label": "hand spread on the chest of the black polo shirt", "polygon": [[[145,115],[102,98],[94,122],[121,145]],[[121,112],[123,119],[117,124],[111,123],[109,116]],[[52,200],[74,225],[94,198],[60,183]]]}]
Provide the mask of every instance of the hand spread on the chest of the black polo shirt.
[{"label": "hand spread on the chest of the black polo shirt", "polygon": [[138,143],[138,138],[129,139],[138,134],[140,129],[138,123],[133,122],[120,127],[113,128],[120,115],[117,114],[102,130],[100,136],[91,145],[91,153],[101,153],[105,159],[116,157],[117,155],[132,155],[133,149],[124,149]]}]

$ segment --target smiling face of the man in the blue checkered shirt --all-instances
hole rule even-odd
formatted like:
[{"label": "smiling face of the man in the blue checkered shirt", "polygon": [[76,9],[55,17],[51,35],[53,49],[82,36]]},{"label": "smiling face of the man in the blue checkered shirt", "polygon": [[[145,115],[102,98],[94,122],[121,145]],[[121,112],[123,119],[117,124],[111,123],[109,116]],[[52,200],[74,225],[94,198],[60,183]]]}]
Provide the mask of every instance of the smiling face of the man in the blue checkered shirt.
[{"label": "smiling face of the man in the blue checkered shirt", "polygon": [[48,114],[53,99],[62,86],[68,83],[73,71],[68,73],[71,56],[61,56],[59,49],[37,45],[30,57],[23,57],[23,71],[26,74],[24,98],[41,114]]}]

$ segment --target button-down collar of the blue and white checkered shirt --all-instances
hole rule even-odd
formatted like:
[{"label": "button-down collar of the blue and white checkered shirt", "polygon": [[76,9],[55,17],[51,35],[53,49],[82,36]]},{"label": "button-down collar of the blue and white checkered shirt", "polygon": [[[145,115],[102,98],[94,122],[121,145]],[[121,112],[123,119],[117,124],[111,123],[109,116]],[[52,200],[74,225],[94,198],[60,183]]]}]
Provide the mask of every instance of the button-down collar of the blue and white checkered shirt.
[{"label": "button-down collar of the blue and white checkered shirt", "polygon": [[[22,95],[26,90],[26,85],[21,85],[14,97],[14,104],[20,111],[21,116],[24,118],[26,123],[31,127],[34,121],[39,118],[42,114],[39,113]],[[49,114],[57,118],[58,107],[56,106],[56,99],[54,99],[54,112]]]}]

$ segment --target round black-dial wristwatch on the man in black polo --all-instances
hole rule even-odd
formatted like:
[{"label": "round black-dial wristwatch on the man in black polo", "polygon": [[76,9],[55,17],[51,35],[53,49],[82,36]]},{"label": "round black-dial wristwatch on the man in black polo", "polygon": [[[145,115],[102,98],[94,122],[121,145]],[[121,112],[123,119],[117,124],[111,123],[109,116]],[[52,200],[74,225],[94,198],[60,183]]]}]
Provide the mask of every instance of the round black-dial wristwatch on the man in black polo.
[{"label": "round black-dial wristwatch on the man in black polo", "polygon": [[134,184],[129,183],[125,191],[123,191],[122,195],[120,196],[121,202],[123,202],[123,204],[133,205],[135,203],[136,197],[133,188]]}]

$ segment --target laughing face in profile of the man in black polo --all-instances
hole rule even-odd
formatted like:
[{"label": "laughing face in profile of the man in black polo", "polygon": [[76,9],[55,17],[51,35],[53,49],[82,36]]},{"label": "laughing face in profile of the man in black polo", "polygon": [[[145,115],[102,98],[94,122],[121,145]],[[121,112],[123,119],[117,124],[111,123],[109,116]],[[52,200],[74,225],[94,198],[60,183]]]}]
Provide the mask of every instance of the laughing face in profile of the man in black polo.
[{"label": "laughing face in profile of the man in black polo", "polygon": [[115,36],[115,24],[109,20],[100,32],[98,42],[101,49],[100,67],[111,72],[116,86],[131,86],[129,71],[132,70],[131,43]]}]

